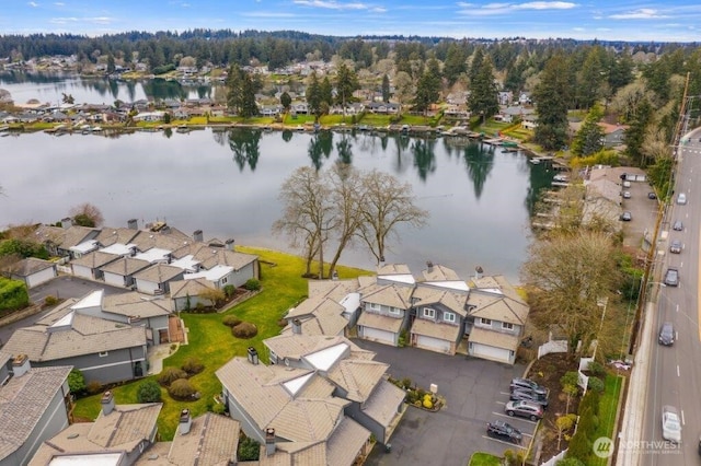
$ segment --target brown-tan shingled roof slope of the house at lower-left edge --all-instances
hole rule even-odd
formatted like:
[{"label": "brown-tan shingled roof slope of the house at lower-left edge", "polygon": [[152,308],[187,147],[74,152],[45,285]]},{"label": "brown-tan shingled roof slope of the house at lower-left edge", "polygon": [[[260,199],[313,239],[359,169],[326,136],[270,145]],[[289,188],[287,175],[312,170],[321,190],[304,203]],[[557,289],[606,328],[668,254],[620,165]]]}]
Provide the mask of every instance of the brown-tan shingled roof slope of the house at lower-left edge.
[{"label": "brown-tan shingled roof slope of the house at lower-left edge", "polygon": [[32,368],[0,386],[0,462],[28,440],[71,369]]}]

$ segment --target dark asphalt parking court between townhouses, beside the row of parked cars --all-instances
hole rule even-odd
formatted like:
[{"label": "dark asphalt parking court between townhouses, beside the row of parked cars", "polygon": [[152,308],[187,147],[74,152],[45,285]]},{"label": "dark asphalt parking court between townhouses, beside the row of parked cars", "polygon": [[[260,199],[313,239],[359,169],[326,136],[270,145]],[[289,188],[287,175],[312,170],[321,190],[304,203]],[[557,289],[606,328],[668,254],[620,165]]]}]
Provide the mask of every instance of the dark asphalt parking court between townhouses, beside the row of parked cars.
[{"label": "dark asphalt parking court between townhouses, beside the row of parked cars", "polygon": [[524,445],[530,441],[535,424],[504,415],[508,385],[522,376],[525,366],[499,364],[464,356],[447,356],[417,348],[393,348],[372,341],[353,340],[360,348],[375,351],[376,361],[390,364],[394,378],[409,377],[414,385],[428,389],[438,385],[446,406],[438,412],[409,407],[390,440],[391,451],[382,445],[372,450],[366,465],[464,466],[472,453],[503,455],[516,450],[486,436],[486,422],[502,419],[521,429]]}]

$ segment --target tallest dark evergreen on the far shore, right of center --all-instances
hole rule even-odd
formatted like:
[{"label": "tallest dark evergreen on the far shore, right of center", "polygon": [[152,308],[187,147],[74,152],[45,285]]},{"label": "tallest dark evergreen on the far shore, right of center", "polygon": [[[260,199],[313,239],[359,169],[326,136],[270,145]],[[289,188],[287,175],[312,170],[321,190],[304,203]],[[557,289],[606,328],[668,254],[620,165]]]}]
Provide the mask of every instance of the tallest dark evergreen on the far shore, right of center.
[{"label": "tallest dark evergreen on the far shore, right of center", "polygon": [[553,55],[533,90],[538,116],[535,140],[545,150],[559,150],[567,141],[567,102],[571,95],[567,71],[564,55]]}]

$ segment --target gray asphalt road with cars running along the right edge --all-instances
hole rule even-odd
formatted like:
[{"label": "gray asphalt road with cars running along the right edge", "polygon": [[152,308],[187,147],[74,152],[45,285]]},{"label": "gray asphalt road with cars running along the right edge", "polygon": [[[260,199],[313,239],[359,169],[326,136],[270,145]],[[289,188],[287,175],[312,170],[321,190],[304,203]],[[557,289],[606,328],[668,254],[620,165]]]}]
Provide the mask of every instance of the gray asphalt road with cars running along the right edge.
[{"label": "gray asphalt road with cars running along the right edge", "polygon": [[[676,193],[686,193],[688,202],[674,202],[666,214],[667,225],[681,220],[681,232],[667,229],[667,241],[658,244],[656,280],[664,279],[667,267],[679,269],[679,287],[659,287],[657,291],[654,325],[646,328],[644,337],[652,338],[650,373],[642,442],[642,465],[690,465],[699,464],[699,434],[701,433],[701,318],[699,310],[700,232],[701,232],[701,131],[694,132],[691,141],[680,148],[680,161],[676,179]],[[681,254],[669,254],[670,240],[680,240]],[[660,254],[663,253],[663,254]],[[658,277],[658,278],[657,278]],[[653,289],[653,292],[654,289]],[[663,322],[671,322],[677,331],[677,341],[671,347],[657,343],[657,334]],[[662,407],[675,406],[681,416],[681,444],[663,443]]]}]

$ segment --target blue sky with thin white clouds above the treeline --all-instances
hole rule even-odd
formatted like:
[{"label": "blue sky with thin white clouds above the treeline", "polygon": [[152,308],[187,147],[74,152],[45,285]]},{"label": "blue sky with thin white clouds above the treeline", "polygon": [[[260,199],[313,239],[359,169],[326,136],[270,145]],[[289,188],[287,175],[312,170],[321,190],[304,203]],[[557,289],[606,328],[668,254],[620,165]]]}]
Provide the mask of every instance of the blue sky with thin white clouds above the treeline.
[{"label": "blue sky with thin white clouds above the treeline", "polygon": [[334,36],[701,40],[701,2],[683,0],[2,0],[0,4],[0,34],[94,36],[204,27]]}]

